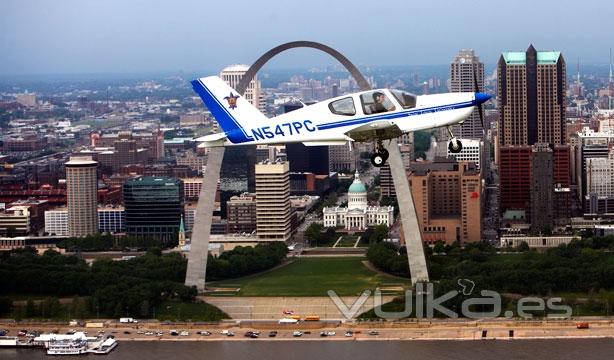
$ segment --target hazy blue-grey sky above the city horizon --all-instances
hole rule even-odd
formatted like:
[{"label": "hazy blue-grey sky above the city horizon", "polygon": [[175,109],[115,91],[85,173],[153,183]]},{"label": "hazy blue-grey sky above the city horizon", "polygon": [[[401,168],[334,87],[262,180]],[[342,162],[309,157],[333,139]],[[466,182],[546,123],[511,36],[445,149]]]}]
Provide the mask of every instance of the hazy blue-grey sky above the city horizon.
[{"label": "hazy blue-grey sky above the city horizon", "polygon": [[[218,70],[287,41],[312,40],[355,64],[447,64],[460,48],[561,50],[607,63],[610,0],[0,0],[0,74]],[[290,50],[273,67],[332,64]]]}]

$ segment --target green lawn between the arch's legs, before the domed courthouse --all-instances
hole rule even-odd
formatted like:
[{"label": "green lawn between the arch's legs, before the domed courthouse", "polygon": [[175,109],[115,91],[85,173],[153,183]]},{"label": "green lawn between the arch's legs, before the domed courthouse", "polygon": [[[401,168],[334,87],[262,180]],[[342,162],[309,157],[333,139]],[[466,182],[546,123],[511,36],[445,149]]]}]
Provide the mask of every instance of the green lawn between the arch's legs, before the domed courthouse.
[{"label": "green lawn between the arch's legs, before the domed courthouse", "polygon": [[363,257],[300,258],[262,275],[210,283],[212,287],[240,287],[238,296],[359,295],[376,287],[410,285],[409,279],[380,275],[367,269]]}]

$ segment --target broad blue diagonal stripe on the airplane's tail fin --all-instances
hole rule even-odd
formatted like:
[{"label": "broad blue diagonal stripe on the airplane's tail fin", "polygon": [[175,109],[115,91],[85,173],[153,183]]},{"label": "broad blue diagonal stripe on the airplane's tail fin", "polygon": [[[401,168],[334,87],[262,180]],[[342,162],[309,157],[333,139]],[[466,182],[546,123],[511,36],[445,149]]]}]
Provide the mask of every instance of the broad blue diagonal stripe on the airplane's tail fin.
[{"label": "broad blue diagonal stripe on the airplane's tail fin", "polygon": [[211,111],[215,120],[220,124],[220,127],[224,130],[230,142],[239,144],[254,140],[252,136],[247,135],[245,129],[243,129],[239,122],[228,112],[226,107],[213,96],[211,91],[207,89],[200,79],[192,80],[190,83],[194,91],[196,91],[205,105],[207,105],[207,108]]}]

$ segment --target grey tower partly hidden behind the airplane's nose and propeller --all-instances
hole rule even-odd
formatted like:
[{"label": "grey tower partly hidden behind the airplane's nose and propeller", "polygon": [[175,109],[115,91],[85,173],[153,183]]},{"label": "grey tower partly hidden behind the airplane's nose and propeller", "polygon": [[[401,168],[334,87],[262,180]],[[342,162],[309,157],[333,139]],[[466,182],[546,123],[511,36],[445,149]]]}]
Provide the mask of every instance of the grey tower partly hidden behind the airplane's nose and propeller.
[{"label": "grey tower partly hidden behind the airplane's nose and propeller", "polygon": [[[484,63],[480,61],[473,50],[461,50],[450,63],[450,91],[474,92],[473,74],[477,75],[480,91],[484,91]],[[484,136],[480,114],[473,109],[471,116],[462,125],[452,127],[452,132],[461,139],[482,139]]]}]

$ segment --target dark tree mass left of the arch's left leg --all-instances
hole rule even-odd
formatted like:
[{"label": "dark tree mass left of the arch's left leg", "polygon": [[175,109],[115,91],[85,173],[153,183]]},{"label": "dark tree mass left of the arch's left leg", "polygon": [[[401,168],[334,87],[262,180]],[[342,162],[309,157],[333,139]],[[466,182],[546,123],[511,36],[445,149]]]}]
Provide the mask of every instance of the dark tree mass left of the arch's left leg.
[{"label": "dark tree mass left of the arch's left leg", "polygon": [[[30,249],[15,250],[0,258],[0,297],[77,296],[82,300],[73,303],[82,313],[147,317],[164,302],[195,300],[196,288],[183,285],[186,268],[187,261],[180,254],[162,255],[159,251],[127,261],[100,258],[88,266],[75,256],[52,250],[43,255]],[[55,309],[47,311],[49,316],[59,311],[57,306],[49,308]],[[26,304],[24,314],[32,314],[35,309],[28,309]],[[42,315],[42,312],[35,313]]]}]

